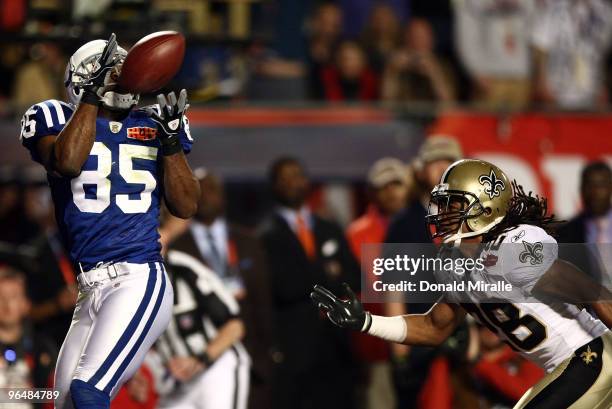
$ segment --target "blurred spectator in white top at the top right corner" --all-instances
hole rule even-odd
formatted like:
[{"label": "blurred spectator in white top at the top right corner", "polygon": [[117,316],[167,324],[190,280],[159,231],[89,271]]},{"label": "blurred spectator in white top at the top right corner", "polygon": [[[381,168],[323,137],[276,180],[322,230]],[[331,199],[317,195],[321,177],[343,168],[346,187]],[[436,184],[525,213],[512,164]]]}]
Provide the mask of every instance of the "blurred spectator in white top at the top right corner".
[{"label": "blurred spectator in white top at the top right corner", "polygon": [[612,5],[605,0],[543,2],[533,27],[536,100],[565,109],[605,103],[602,70]]}]

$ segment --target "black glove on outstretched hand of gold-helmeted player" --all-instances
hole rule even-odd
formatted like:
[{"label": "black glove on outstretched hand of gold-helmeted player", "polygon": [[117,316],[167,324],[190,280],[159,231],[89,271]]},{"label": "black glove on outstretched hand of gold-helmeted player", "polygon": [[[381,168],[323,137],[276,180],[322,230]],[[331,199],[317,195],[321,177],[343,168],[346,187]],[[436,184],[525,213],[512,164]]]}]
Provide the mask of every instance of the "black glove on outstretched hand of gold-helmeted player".
[{"label": "black glove on outstretched hand of gold-helmeted player", "polygon": [[342,286],[348,296],[347,300],[339,299],[327,288],[318,284],[314,286],[310,298],[317,307],[326,312],[327,318],[340,328],[366,332],[372,324],[370,313],[363,310],[361,302],[348,284],[343,283]]}]

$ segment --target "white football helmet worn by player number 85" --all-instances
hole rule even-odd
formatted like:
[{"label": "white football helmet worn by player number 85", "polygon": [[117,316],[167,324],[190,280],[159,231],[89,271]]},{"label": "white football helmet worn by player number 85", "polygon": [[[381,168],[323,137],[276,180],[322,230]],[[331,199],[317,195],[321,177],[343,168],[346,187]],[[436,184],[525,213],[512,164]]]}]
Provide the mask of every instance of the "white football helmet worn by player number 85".
[{"label": "white football helmet worn by player number 85", "polygon": [[[68,92],[70,102],[77,105],[83,95],[83,89],[80,87],[94,69],[94,63],[104,51],[106,40],[93,40],[83,44],[68,61],[66,73],[64,75],[64,85]],[[121,47],[117,47],[115,60],[120,64],[125,60],[127,51]],[[104,80],[106,86],[114,84],[113,70],[109,71]],[[139,95],[135,94],[119,94],[114,91],[106,91],[104,95],[100,95],[102,105],[109,109],[124,110],[130,109],[138,103]]]}]

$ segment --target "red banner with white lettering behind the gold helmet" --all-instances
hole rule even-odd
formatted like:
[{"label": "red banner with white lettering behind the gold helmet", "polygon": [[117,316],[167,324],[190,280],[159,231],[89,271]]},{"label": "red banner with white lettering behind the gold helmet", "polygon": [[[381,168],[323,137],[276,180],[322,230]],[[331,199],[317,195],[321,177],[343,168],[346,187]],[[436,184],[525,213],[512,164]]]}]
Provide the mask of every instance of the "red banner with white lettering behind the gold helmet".
[{"label": "red banner with white lettering behind the gold helmet", "polygon": [[456,137],[466,157],[491,161],[527,191],[544,195],[567,218],[580,208],[580,172],[592,160],[612,164],[612,115],[443,114],[429,134]]}]

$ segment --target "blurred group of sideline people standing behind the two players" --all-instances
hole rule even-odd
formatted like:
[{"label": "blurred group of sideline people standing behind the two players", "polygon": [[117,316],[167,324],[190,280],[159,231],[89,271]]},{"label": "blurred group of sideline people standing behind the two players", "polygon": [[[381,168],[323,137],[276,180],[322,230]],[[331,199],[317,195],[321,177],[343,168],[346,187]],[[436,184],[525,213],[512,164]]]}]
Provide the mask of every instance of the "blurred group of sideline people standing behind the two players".
[{"label": "blurred group of sideline people standing behind the two players", "polygon": [[[163,252],[188,254],[197,260],[193,263],[206,266],[192,271],[212,271],[223,287],[215,290],[218,296],[230,309],[237,303],[240,313],[217,323],[207,310],[216,325],[212,338],[208,333],[207,352],[218,351],[217,362],[202,366],[194,360],[197,347],[189,342],[197,328],[179,308],[185,302],[184,285],[174,281],[175,294],[183,300],[175,298],[176,324],[119,392],[114,407],[173,407],[177,401],[172,399],[187,395],[168,398],[169,390],[212,377],[216,388],[227,389],[233,371],[214,369],[221,368],[226,351],[243,346],[252,409],[512,407],[543,371],[477,323],[468,320],[439,348],[409,348],[335,328],[309,298],[314,284],[337,292],[344,282],[359,289],[372,280],[360,271],[363,244],[430,242],[424,218],[428,194],[446,167],[461,157],[453,138],[434,135],[408,164],[396,158],[376,161],[364,174],[365,192],[355,189],[356,196],[367,197],[362,214],[345,228],[321,216],[321,201],[299,158],[281,157],[270,164],[273,204],[256,229],[228,220],[223,180],[210,169],[196,169],[198,212],[188,221],[163,216]],[[78,266],[68,260],[59,238],[44,171],[4,168],[0,176],[0,386],[49,386],[71,322]],[[560,242],[612,242],[612,171],[607,164],[584,168],[581,194],[583,210],[559,230]],[[184,269],[176,265],[170,257],[169,270],[179,274]],[[173,280],[189,282],[185,277],[194,273],[180,274]],[[192,291],[202,292],[204,303],[214,285],[198,283]],[[382,315],[429,307],[404,299],[367,305]],[[194,352],[177,352],[181,339]],[[174,386],[168,386],[169,379]],[[219,394],[207,385],[198,389],[208,392],[198,395],[201,406],[194,407],[215,407],[213,396]]]}]

